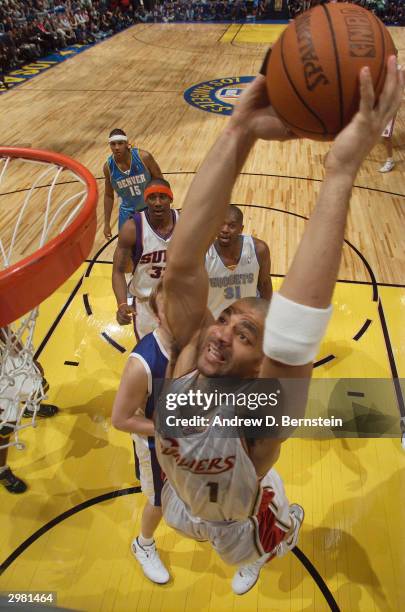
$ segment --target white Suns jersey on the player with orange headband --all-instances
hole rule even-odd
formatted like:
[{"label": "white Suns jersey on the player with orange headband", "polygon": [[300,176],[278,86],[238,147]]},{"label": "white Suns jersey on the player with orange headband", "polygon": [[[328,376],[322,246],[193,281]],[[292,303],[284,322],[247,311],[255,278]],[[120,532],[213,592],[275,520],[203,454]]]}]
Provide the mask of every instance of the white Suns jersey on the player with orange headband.
[{"label": "white Suns jersey on the player with orange headband", "polygon": [[[178,219],[178,212],[171,211],[173,229]],[[132,295],[142,299],[148,298],[159,282],[166,268],[166,251],[173,231],[169,236],[161,236],[148,221],[147,211],[133,215],[136,227],[136,243],[132,250],[134,275],[129,290]]]}]

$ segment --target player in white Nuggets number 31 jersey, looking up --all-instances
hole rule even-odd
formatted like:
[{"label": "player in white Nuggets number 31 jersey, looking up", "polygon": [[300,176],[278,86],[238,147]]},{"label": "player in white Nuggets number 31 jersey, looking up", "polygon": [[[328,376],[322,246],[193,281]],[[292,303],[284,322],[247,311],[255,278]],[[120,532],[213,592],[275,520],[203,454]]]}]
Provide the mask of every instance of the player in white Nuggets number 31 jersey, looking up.
[{"label": "player in white Nuggets number 31 jersey, looking up", "polygon": [[243,213],[231,204],[205,259],[208,308],[215,318],[240,298],[257,296],[270,300],[273,293],[269,247],[242,231]]}]

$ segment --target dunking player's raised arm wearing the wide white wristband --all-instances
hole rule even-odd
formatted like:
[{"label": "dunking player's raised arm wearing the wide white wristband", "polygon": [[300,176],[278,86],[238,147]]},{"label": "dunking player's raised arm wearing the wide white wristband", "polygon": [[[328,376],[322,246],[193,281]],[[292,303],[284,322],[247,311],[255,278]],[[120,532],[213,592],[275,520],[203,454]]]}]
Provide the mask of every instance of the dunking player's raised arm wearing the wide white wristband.
[{"label": "dunking player's raised arm wearing the wide white wristband", "polygon": [[383,92],[375,105],[370,71],[360,74],[360,108],[338,135],[326,159],[326,176],[280,293],[266,319],[261,375],[307,376],[331,314],[351,191],[367,153],[398,109],[404,71],[388,60]]}]

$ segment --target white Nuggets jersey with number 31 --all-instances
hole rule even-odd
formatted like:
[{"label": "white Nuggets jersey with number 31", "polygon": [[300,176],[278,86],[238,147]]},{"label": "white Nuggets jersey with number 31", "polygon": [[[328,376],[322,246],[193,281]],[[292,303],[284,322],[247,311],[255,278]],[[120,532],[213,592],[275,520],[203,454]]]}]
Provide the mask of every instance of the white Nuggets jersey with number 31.
[{"label": "white Nuggets jersey with number 31", "polygon": [[244,297],[256,297],[259,262],[252,236],[242,236],[243,244],[237,266],[225,266],[212,244],[205,257],[209,277],[208,308],[215,318],[233,302]]}]

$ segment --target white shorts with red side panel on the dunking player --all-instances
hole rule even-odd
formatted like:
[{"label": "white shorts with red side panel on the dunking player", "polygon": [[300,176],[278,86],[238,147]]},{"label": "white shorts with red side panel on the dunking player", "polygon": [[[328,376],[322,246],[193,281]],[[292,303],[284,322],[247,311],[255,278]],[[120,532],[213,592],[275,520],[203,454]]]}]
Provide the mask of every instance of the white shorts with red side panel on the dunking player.
[{"label": "white shorts with red side panel on the dunking player", "polygon": [[285,537],[291,522],[289,502],[280,476],[270,470],[261,481],[262,503],[258,514],[242,521],[204,521],[193,516],[168,481],[162,491],[166,523],[193,540],[208,540],[229,565],[253,563],[272,552]]}]

